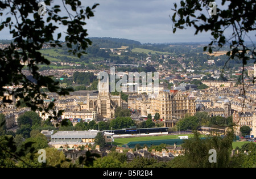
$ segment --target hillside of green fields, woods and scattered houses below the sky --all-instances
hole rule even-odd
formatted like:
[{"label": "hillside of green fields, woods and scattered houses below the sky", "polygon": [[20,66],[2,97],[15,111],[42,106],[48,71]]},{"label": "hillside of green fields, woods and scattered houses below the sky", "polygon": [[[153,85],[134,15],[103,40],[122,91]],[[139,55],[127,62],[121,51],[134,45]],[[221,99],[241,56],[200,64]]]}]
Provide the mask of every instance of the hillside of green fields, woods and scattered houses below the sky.
[{"label": "hillside of green fields, woods and scattered houses below the sky", "polygon": [[[139,68],[144,66],[154,66],[156,70],[162,70],[163,67],[172,70],[196,70],[195,74],[203,70],[222,69],[228,60],[224,46],[218,52],[208,54],[204,52],[203,43],[176,43],[176,44],[141,44],[139,41],[118,39],[110,37],[91,37],[93,44],[86,49],[86,53],[81,58],[69,54],[67,46],[63,43],[61,48],[51,48],[45,44],[42,50],[39,50],[44,57],[51,61],[49,65],[52,69],[70,68],[102,70],[109,69],[113,65],[134,64]],[[2,45],[1,45],[2,42]],[[0,49],[6,48],[11,41],[0,40]],[[250,53],[248,53],[250,56]],[[208,60],[214,60],[214,63],[208,64]],[[253,59],[247,62],[247,66],[254,65]],[[47,67],[46,65],[39,65]],[[226,66],[229,69],[239,70],[240,61],[229,61]],[[40,70],[44,70],[40,69]],[[129,67],[119,67],[120,71],[140,71]]]}]

